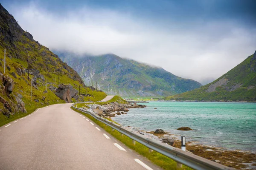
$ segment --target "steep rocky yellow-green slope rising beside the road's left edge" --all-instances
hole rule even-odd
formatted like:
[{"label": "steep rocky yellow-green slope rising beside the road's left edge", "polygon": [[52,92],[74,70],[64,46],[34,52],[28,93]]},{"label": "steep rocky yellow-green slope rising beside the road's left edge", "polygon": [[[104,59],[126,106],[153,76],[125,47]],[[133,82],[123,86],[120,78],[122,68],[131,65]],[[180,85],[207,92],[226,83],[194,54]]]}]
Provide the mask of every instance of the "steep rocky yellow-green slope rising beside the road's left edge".
[{"label": "steep rocky yellow-green slope rising beside the road's left edge", "polygon": [[[6,73],[4,74],[4,48],[6,48]],[[29,67],[29,79],[27,68]],[[32,101],[31,101],[31,76]],[[59,76],[60,75],[60,76]],[[0,4],[0,126],[31,113],[36,108],[64,103],[55,95],[60,84],[71,84],[83,100],[99,101],[104,92],[92,91],[72,68],[57,55],[24,31],[14,17]],[[47,92],[46,82],[48,85]],[[75,101],[73,99],[73,101]]]}]

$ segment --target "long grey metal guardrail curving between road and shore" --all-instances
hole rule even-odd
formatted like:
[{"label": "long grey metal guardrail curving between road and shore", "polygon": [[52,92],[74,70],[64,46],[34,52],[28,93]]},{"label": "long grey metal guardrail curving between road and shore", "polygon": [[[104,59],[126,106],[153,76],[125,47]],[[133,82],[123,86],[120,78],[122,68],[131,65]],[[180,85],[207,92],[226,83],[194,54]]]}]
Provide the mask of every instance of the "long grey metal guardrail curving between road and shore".
[{"label": "long grey metal guardrail curving between road and shore", "polygon": [[104,119],[100,116],[97,116],[95,113],[90,111],[85,111],[81,108],[76,108],[74,105],[72,105],[73,108],[82,111],[84,113],[89,114],[90,116],[93,116],[96,120],[99,120],[100,122],[104,123],[105,125],[110,126],[111,128],[119,131],[120,133],[124,134],[125,136],[128,136],[129,138],[145,145],[149,149],[155,150],[158,153],[163,154],[164,156],[167,156],[180,164],[184,164],[188,167],[191,167],[195,170],[235,170],[231,167],[224,166],[222,164],[218,164],[216,162],[210,161],[208,159],[202,158],[200,156],[196,156],[192,153],[188,153],[186,151],[183,151],[179,148],[172,147],[167,144],[163,144],[158,141],[154,141],[153,139],[147,138],[140,133],[136,133],[132,131],[131,129],[128,129],[126,127],[122,127],[120,125],[115,124],[114,122],[111,122],[107,119]]}]

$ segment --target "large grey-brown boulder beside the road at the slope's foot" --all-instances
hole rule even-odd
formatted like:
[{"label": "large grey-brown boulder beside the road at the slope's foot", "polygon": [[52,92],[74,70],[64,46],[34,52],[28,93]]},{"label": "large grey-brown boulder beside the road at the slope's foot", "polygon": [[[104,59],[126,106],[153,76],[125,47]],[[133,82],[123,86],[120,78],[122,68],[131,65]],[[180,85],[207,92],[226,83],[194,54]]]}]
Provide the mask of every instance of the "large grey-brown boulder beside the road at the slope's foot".
[{"label": "large grey-brown boulder beside the road at the slope's foot", "polygon": [[59,88],[56,89],[56,96],[60,99],[64,100],[66,103],[71,103],[71,98],[78,94],[78,91],[73,88],[72,85],[60,85]]}]

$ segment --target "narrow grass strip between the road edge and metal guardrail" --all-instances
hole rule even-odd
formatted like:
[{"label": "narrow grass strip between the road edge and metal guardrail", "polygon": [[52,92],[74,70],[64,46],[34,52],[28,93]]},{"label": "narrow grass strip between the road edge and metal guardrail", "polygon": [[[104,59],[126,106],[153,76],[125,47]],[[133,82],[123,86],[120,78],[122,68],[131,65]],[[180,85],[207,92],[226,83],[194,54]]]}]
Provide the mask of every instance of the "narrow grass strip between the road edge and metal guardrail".
[{"label": "narrow grass strip between the road edge and metal guardrail", "polygon": [[[154,164],[158,165],[159,167],[163,168],[164,170],[176,170],[177,169],[177,162],[160,154],[157,152],[152,152],[149,153],[148,152],[148,147],[144,146],[143,144],[140,144],[138,142],[136,142],[136,145],[134,146],[132,143],[132,139],[129,138],[128,136],[125,136],[121,133],[119,133],[118,131],[114,130],[112,131],[112,128],[105,125],[104,123],[96,120],[95,118],[93,118],[92,116],[90,116],[87,113],[83,113],[75,108],[72,108],[74,111],[83,114],[84,116],[87,116],[89,119],[91,119],[93,122],[95,122],[97,125],[99,125],[100,127],[102,127],[104,130],[106,130],[109,134],[111,134],[113,137],[115,137],[116,139],[118,139],[120,142],[122,142],[123,144],[125,144],[127,147],[131,148],[132,150],[135,150],[137,153],[139,153],[142,156],[145,156],[147,159],[149,159],[151,162],[153,162]],[[183,165],[183,169],[184,170],[192,170],[189,167],[186,167]]]}]

